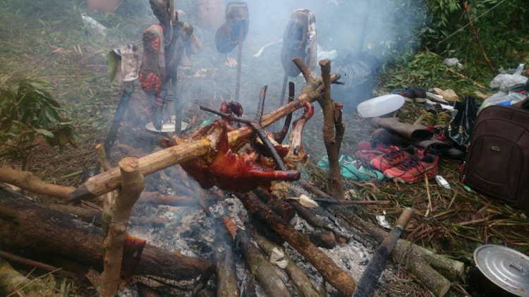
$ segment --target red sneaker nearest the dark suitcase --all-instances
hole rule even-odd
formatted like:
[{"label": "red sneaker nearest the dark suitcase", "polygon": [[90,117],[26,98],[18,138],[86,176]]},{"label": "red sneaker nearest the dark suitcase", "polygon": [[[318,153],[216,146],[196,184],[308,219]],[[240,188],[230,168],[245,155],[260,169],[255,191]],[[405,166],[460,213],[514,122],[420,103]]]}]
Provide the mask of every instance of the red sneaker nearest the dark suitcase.
[{"label": "red sneaker nearest the dark suitcase", "polygon": [[387,178],[395,178],[401,183],[415,183],[426,176],[432,179],[437,175],[439,157],[434,154],[425,154],[425,157],[411,157],[405,159],[394,168],[384,171]]}]

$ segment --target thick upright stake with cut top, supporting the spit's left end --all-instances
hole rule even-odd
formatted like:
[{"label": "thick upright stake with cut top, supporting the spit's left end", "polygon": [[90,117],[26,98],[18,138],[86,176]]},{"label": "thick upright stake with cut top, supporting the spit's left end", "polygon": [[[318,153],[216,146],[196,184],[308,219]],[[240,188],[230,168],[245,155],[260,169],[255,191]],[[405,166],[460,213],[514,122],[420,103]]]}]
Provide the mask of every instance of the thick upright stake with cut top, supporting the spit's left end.
[{"label": "thick upright stake with cut top, supporting the spit's left end", "polygon": [[119,162],[121,170],[121,196],[116,200],[114,215],[109,227],[109,236],[104,240],[107,253],[101,280],[101,296],[113,297],[118,292],[123,245],[130,213],[145,188],[138,159],[126,157]]}]

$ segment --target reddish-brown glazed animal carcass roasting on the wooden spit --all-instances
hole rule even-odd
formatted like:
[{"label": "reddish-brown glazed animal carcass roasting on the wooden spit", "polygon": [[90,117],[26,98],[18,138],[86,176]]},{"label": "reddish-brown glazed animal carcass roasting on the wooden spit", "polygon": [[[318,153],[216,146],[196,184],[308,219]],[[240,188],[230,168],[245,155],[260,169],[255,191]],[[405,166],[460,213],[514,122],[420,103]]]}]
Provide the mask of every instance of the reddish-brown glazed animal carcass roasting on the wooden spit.
[{"label": "reddish-brown glazed animal carcass roasting on the wooden spit", "polygon": [[[236,102],[223,104],[223,109],[235,114],[242,113],[241,105]],[[200,138],[208,138],[214,144],[214,152],[208,157],[193,159],[181,166],[203,188],[217,186],[222,190],[248,192],[259,186],[272,188],[274,185],[276,188],[281,181],[297,181],[300,178],[300,172],[296,170],[298,163],[305,162],[308,157],[303,152],[301,136],[305,123],[313,114],[312,104],[305,104],[303,116],[293,124],[289,138],[291,145],[280,145],[273,140],[272,133],[267,133],[279,156],[291,170],[276,170],[276,164],[269,157],[260,140],[243,147],[241,152],[238,149],[239,145],[229,147],[229,124],[226,121],[215,121],[191,135],[188,140],[175,137],[176,145]]]}]

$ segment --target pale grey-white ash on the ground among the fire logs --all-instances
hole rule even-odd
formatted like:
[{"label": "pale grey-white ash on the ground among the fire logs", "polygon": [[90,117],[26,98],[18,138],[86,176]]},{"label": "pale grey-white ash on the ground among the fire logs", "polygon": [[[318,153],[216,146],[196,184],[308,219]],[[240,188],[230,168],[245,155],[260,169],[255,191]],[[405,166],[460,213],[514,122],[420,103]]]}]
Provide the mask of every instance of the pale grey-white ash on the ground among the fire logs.
[{"label": "pale grey-white ash on the ground among the fire logs", "polygon": [[[231,217],[239,227],[248,224],[248,214],[245,208],[242,203],[238,199],[233,198],[233,196],[211,205],[209,211],[212,212],[213,217]],[[162,205],[154,207],[150,205],[142,205],[141,207],[135,207],[133,215],[138,217],[141,215],[146,217],[166,217],[171,220],[171,222],[164,228],[153,229],[151,226],[133,226],[130,228],[129,231],[131,234],[146,239],[147,243],[171,252],[181,253],[181,255],[212,259],[214,230],[217,226],[214,224],[214,219],[207,217],[202,209],[194,207],[171,207]],[[367,262],[372,257],[374,246],[355,241],[353,238],[358,237],[358,234],[352,234],[351,232],[348,232],[347,229],[340,228],[340,223],[342,223],[340,219],[334,217],[331,219],[329,219],[329,217],[318,217],[320,217],[320,219],[322,219],[322,221],[328,226],[336,229],[348,238],[351,238],[348,243],[338,245],[332,250],[324,248],[320,248],[320,250],[329,255],[329,257],[336,262],[336,265],[351,274],[353,279],[358,281],[365,269],[365,265],[367,265]],[[303,218],[298,217],[297,214],[294,219],[292,219],[291,226],[303,233],[316,231],[313,226],[308,224]],[[322,277],[320,273],[317,272],[317,270],[296,250],[289,246],[288,243],[285,243],[284,246],[286,248],[286,254],[308,274],[312,283],[317,288],[320,288],[322,285]],[[253,296],[253,291],[255,291],[255,296],[266,296],[258,281],[255,281],[253,275],[250,273],[243,256],[236,251],[236,257],[236,272],[241,296]],[[292,296],[299,296],[284,270],[279,269],[279,267],[275,267],[275,269],[281,279],[284,280],[289,291],[291,291]],[[388,268],[382,274],[380,281],[384,284],[388,279],[393,277],[394,272],[392,269]],[[154,281],[154,279],[150,279],[150,281]],[[178,281],[172,284],[177,289],[168,291],[168,288],[164,286],[166,281],[161,281],[160,285],[162,287],[160,289],[164,289],[163,291],[169,293],[169,296],[191,296],[193,293],[191,289],[196,283],[197,280]],[[215,277],[212,277],[212,279],[208,281],[206,289],[214,290],[214,288]],[[244,292],[244,290],[247,292]],[[327,284],[327,292],[332,293],[333,291],[336,293],[336,291],[332,289],[332,286]]]}]

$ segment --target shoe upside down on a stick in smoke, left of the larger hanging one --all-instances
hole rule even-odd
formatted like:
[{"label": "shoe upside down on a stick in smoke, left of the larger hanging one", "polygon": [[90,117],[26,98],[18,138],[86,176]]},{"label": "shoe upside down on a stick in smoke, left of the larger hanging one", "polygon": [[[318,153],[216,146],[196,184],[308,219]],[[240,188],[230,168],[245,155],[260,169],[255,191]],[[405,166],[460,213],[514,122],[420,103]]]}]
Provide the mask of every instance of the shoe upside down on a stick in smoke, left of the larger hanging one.
[{"label": "shoe upside down on a stick in smoke, left of the larger hanging one", "polygon": [[215,47],[221,54],[233,51],[239,43],[239,34],[243,30],[243,40],[248,35],[248,5],[244,2],[231,2],[226,6],[226,21],[215,35]]}]

